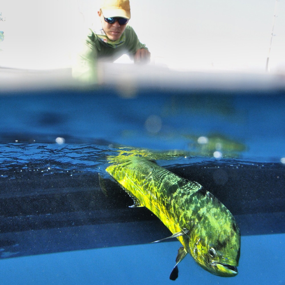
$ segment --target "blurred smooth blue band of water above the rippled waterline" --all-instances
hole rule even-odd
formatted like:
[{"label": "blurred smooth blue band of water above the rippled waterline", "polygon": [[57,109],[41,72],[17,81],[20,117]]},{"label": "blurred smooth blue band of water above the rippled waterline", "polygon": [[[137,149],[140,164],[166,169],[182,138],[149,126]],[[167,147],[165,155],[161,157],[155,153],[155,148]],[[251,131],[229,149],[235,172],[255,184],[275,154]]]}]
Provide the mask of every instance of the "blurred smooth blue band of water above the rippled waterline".
[{"label": "blurred smooth blue band of water above the rippled waterline", "polygon": [[[250,96],[143,89],[131,99],[113,89],[35,93],[1,97],[2,140],[8,136],[9,142],[46,143],[64,137],[66,143],[101,139],[158,150],[191,150],[192,136],[218,133],[245,144],[244,158],[280,162],[285,156],[282,92]],[[153,116],[159,125],[154,132],[146,128]]]}]

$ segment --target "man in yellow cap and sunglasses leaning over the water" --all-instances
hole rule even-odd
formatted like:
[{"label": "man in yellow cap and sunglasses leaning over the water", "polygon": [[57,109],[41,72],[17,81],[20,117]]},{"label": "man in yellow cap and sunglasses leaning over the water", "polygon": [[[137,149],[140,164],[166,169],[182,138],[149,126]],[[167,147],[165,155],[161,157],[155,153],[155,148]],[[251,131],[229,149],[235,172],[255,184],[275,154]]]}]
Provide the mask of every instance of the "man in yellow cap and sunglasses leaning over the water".
[{"label": "man in yellow cap and sunglasses leaning over the water", "polygon": [[84,49],[72,69],[74,78],[95,83],[98,58],[114,61],[127,53],[135,63],[149,62],[150,52],[127,25],[131,18],[129,0],[104,0],[98,16],[102,28],[99,32],[89,29]]}]

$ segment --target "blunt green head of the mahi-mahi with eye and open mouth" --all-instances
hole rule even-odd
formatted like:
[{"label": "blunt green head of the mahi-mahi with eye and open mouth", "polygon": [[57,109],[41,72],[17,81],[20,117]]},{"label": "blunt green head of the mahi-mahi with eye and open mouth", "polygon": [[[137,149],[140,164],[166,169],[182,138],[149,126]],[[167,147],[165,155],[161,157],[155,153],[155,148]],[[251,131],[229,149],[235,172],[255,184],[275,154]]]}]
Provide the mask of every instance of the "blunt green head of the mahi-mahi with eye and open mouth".
[{"label": "blunt green head of the mahi-mahi with eye and open mouth", "polygon": [[240,230],[231,212],[215,202],[197,214],[199,221],[189,232],[187,251],[212,274],[231,277],[238,273]]}]

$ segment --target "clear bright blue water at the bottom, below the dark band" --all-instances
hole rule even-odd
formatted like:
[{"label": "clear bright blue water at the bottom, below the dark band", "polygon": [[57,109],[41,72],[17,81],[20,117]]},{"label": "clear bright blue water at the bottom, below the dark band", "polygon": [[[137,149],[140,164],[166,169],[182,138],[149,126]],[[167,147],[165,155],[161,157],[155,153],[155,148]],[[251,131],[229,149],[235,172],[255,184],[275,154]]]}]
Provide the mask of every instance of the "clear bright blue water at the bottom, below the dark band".
[{"label": "clear bright blue water at the bottom, below the dark band", "polygon": [[1,260],[1,284],[285,284],[285,235],[242,236],[239,274],[214,276],[189,255],[168,279],[179,242],[111,247]]}]

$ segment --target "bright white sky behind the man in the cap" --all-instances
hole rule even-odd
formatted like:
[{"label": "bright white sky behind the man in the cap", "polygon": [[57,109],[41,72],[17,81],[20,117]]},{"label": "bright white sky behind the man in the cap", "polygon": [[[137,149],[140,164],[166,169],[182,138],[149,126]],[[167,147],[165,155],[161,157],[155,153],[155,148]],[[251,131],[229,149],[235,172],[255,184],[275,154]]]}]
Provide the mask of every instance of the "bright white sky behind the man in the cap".
[{"label": "bright white sky behind the man in the cap", "polygon": [[[70,65],[84,25],[99,25],[99,1],[4,0],[0,66]],[[174,5],[175,3],[175,5]],[[131,0],[129,24],[152,64],[183,70],[263,72],[276,0]],[[269,66],[285,72],[285,0],[278,1]]]}]

